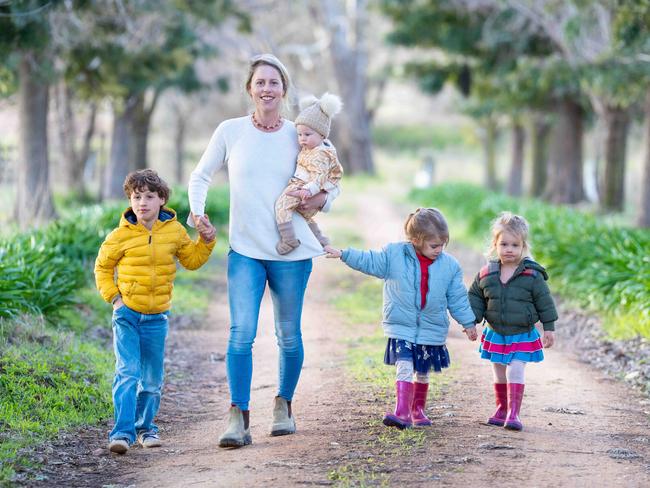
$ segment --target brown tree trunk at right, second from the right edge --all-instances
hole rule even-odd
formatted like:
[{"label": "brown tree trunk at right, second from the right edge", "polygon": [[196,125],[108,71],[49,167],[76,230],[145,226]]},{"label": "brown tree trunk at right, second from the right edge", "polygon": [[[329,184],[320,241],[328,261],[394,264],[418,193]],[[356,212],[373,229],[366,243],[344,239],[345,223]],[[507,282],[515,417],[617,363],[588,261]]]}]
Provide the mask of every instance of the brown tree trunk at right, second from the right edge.
[{"label": "brown tree trunk at right, second from the right edge", "polygon": [[605,104],[603,118],[606,135],[601,206],[605,210],[620,212],[625,205],[625,158],[630,113],[628,109]]}]

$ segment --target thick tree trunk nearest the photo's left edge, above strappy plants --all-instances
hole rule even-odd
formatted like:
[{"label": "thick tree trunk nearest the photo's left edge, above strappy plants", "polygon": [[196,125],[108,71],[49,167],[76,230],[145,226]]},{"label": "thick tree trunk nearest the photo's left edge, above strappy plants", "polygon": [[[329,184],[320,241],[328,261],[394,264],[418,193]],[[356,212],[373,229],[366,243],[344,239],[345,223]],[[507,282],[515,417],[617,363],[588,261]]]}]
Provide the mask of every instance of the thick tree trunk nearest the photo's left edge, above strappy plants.
[{"label": "thick tree trunk nearest the photo's left edge, above strappy plants", "polygon": [[49,85],[38,73],[40,65],[36,54],[23,53],[18,80],[20,164],[14,210],[14,216],[23,229],[56,216],[47,153]]}]

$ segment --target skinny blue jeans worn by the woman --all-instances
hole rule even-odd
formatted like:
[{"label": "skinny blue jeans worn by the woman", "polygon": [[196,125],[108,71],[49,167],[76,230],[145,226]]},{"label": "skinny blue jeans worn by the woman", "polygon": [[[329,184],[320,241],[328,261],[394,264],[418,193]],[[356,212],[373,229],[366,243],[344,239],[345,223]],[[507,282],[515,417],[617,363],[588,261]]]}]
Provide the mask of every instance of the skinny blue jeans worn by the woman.
[{"label": "skinny blue jeans worn by the woman", "polygon": [[278,396],[286,400],[293,398],[305,356],[300,316],[311,268],[311,259],[267,261],[242,256],[233,250],[228,253],[230,338],[226,370],[231,402],[242,410],[248,410],[251,397],[253,342],[267,282],[280,347]]}]

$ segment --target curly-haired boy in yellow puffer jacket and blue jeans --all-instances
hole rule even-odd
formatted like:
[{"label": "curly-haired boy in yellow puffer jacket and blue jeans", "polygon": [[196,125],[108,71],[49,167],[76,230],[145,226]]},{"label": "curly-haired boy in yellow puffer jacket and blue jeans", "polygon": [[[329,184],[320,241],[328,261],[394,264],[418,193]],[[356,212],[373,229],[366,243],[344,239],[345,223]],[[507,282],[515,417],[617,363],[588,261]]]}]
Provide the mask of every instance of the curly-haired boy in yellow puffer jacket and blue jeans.
[{"label": "curly-haired boy in yellow puffer jacket and blue jeans", "polygon": [[176,212],[164,207],[169,187],[151,169],[127,175],[124,193],[131,206],[95,261],[97,289],[113,304],[115,427],[109,450],[118,454],[136,438],[143,447],[162,445],[153,419],[163,384],[174,257],[187,269],[199,268],[210,257],[216,235],[206,217],[199,239],[190,239]]}]

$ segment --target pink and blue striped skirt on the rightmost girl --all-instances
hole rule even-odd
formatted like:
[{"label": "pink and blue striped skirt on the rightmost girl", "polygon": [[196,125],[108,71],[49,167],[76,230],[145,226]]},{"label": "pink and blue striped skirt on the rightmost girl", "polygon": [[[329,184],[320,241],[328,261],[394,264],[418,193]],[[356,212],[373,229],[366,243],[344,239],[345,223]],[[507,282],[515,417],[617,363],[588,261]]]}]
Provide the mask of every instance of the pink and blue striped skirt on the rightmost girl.
[{"label": "pink and blue striped skirt on the rightmost girl", "polygon": [[534,327],[530,332],[507,336],[486,327],[478,350],[483,359],[489,359],[493,363],[510,364],[513,359],[526,363],[544,360],[541,336]]}]

